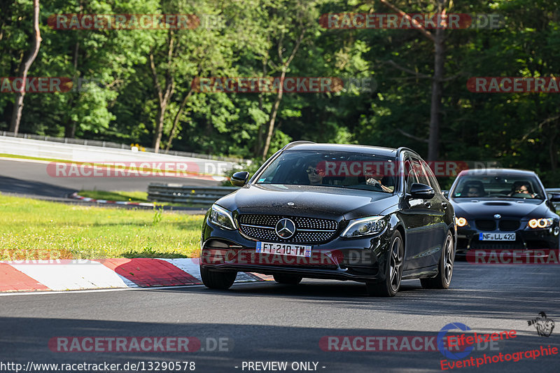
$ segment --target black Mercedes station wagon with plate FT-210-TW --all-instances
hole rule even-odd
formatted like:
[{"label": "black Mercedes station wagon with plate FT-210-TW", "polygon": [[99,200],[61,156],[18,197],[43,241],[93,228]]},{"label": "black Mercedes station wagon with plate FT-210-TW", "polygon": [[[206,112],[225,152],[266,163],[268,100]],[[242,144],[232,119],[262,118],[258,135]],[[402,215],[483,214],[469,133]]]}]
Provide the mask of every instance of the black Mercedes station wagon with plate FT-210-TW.
[{"label": "black Mercedes station wagon with plate FT-210-TW", "polygon": [[296,141],[239,190],[218,199],[202,225],[200,273],[227,289],[237,272],[353,280],[393,297],[402,279],[449,288],[456,248],[453,206],[407,148]]}]

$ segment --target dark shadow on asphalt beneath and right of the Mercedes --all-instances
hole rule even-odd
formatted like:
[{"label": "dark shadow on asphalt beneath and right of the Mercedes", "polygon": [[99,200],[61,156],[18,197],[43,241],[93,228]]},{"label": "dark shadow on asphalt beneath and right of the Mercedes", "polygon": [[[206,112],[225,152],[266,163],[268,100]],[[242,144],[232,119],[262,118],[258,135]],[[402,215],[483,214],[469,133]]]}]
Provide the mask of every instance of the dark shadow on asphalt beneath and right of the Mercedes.
[{"label": "dark shadow on asphalt beneath and right of the Mercedes", "polygon": [[[197,292],[221,297],[279,297],[297,302],[356,311],[384,310],[399,314],[523,318],[558,309],[559,278],[552,265],[470,265],[459,263],[447,290],[426,290],[419,280],[402,281],[392,298],[369,297],[363,283],[304,279],[297,286],[274,281],[235,284],[230,290],[166,288],[148,291]],[[414,304],[414,307],[410,307]],[[444,307],[442,307],[444,305]],[[525,315],[525,316],[521,316]]]}]

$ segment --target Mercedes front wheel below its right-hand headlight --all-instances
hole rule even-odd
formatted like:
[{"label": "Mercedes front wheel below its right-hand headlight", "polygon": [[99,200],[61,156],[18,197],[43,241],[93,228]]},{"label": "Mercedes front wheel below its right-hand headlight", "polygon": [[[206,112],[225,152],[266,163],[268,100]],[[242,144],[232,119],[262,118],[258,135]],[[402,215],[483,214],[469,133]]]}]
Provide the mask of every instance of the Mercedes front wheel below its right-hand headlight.
[{"label": "Mercedes front wheel below its right-hand headlight", "polygon": [[394,297],[400,288],[402,266],[405,262],[405,246],[398,230],[395,230],[395,233],[393,233],[389,248],[390,251],[385,262],[385,280],[365,283],[365,288],[369,295],[375,297]]}]

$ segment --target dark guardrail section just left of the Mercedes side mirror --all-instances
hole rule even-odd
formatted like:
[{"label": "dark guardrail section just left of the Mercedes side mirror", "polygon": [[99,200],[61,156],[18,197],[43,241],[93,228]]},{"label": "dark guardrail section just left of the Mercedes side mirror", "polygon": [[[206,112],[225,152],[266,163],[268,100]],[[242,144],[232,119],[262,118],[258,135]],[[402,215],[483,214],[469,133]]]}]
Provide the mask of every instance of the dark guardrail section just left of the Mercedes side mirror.
[{"label": "dark guardrail section just left of the Mercedes side mirror", "polygon": [[150,183],[148,200],[211,205],[218,199],[238,190],[235,187],[200,187],[182,184]]}]

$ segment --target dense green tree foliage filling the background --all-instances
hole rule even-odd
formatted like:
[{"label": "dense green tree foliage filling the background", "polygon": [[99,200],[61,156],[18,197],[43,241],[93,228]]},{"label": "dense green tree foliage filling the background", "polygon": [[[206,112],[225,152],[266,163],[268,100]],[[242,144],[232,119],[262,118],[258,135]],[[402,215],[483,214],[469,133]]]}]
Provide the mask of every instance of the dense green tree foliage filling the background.
[{"label": "dense green tree foliage filling the background", "polygon": [[[433,12],[437,1],[42,1],[41,49],[29,76],[94,83],[82,92],[27,94],[20,132],[153,146],[161,127],[161,148],[261,158],[272,128],[268,155],[292,140],[409,146],[427,155],[434,43],[414,29],[325,29],[318,20],[324,13],[394,13],[386,3]],[[560,3],[445,3],[449,13],[498,13],[504,22],[497,29],[445,31],[439,158],[498,160],[535,169],[547,185],[558,185],[560,94],[473,93],[466,82],[558,74]],[[18,76],[31,43],[32,7],[31,0],[15,0],[0,13],[2,77]],[[220,22],[174,31],[53,29],[49,16],[61,13],[195,13]],[[275,93],[191,90],[197,76],[280,76],[283,70],[374,84],[372,90],[283,94],[273,127]],[[8,130],[13,100],[0,94],[0,130]]]}]

